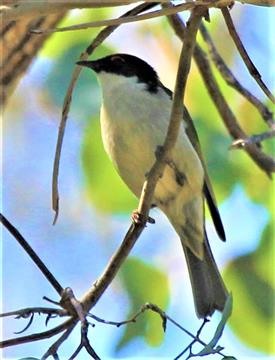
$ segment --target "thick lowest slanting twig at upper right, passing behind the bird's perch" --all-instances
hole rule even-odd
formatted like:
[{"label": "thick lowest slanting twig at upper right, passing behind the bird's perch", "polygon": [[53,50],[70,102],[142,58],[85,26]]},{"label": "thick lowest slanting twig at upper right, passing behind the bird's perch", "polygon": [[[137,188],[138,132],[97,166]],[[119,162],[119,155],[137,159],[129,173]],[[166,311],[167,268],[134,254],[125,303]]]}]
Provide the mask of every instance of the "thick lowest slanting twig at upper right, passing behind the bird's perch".
[{"label": "thick lowest slanting twig at upper right, passing behind the bird's perch", "polygon": [[[186,27],[182,19],[178,15],[172,15],[168,17],[171,26],[174,28],[177,36],[184,41]],[[194,50],[194,59],[203,78],[205,86],[212,98],[214,105],[216,106],[226,128],[233,139],[247,138],[247,134],[238,124],[238,121],[233,114],[232,110],[228,106],[226,99],[224,98],[219,85],[211,70],[209,61],[202,48],[197,44]],[[255,144],[247,144],[244,150],[250,155],[251,159],[262,169],[268,176],[272,172],[275,172],[275,160],[263,153],[261,149]]]}]

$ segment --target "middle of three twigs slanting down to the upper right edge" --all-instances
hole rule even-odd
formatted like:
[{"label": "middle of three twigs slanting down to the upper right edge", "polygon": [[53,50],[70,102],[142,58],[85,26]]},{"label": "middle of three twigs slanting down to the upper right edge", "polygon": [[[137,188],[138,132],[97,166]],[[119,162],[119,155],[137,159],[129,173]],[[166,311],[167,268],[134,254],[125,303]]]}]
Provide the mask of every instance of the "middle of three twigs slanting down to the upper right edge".
[{"label": "middle of three twigs slanting down to the upper right edge", "polygon": [[249,90],[247,90],[242,84],[238,81],[236,76],[232,73],[229,67],[224,62],[223,58],[219,54],[207,28],[201,24],[200,33],[202,35],[203,40],[206,42],[209,54],[211,56],[212,61],[216,65],[217,69],[220,71],[220,74],[227,82],[228,85],[232,86],[236,89],[240,94],[242,94],[252,105],[256,107],[256,109],[261,114],[262,118],[265,122],[271,127],[275,127],[275,122],[273,119],[273,113],[268,109],[268,107],[263,104],[256,96],[254,96]]}]

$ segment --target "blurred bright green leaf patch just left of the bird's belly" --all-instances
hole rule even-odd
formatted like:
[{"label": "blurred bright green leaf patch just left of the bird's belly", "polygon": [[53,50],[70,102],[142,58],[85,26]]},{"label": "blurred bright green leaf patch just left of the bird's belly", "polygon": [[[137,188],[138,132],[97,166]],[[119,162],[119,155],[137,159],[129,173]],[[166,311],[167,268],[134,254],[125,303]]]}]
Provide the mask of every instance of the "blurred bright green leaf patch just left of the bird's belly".
[{"label": "blurred bright green leaf patch just left of the bird's belly", "polygon": [[82,164],[88,199],[105,213],[130,212],[137,199],[120,179],[102,144],[100,122],[91,119],[82,144]]}]

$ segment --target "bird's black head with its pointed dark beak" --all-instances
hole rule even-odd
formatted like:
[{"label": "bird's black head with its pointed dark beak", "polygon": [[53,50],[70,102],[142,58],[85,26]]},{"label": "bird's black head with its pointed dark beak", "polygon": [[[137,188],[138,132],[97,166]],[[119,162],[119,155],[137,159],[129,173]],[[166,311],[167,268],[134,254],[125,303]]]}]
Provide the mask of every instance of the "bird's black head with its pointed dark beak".
[{"label": "bird's black head with its pointed dark beak", "polygon": [[113,54],[94,61],[78,61],[77,64],[97,73],[104,71],[125,77],[136,76],[139,82],[146,84],[150,92],[156,92],[160,86],[158,75],[152,66],[133,55]]}]

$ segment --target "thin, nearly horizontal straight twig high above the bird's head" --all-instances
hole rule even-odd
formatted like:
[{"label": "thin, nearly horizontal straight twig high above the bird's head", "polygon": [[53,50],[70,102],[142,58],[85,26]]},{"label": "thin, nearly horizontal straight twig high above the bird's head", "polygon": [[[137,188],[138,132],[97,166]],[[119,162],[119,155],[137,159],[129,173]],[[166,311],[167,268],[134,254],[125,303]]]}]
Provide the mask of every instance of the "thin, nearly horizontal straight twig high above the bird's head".
[{"label": "thin, nearly horizontal straight twig high above the bird's head", "polygon": [[[180,5],[175,5],[174,7],[171,7],[171,8],[163,8],[160,10],[151,11],[149,13],[146,13],[143,15],[138,15],[138,16],[130,15],[130,16],[124,16],[124,17],[115,18],[115,19],[92,21],[92,22],[71,25],[71,26],[66,26],[63,28],[56,28],[56,29],[46,29],[46,30],[34,29],[31,32],[33,34],[39,35],[39,34],[45,34],[45,33],[83,30],[83,29],[88,29],[91,27],[121,25],[121,24],[126,24],[126,23],[133,23],[136,21],[149,20],[149,19],[153,19],[156,17],[160,17],[160,16],[172,15],[172,14],[175,14],[175,13],[178,13],[181,11],[192,10],[197,6],[220,7],[221,2],[224,4],[225,1],[224,0],[221,0],[221,1],[220,0],[214,0],[214,1],[213,0],[196,0],[194,2],[188,2],[188,3],[184,3],[184,4],[180,4]],[[230,1],[226,1],[226,3],[228,5],[230,3]]]}]

